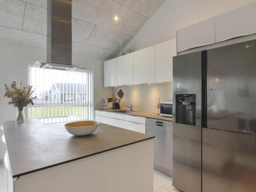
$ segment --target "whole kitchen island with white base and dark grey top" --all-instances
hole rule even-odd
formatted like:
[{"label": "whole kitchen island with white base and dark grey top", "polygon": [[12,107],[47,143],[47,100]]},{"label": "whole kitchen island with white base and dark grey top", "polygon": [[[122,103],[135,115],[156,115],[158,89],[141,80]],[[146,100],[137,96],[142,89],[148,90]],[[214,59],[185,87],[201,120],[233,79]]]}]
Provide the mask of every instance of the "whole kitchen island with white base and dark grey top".
[{"label": "whole kitchen island with white base and dark grey top", "polygon": [[153,191],[153,136],[99,124],[89,136],[65,123],[2,123],[7,191]]}]

